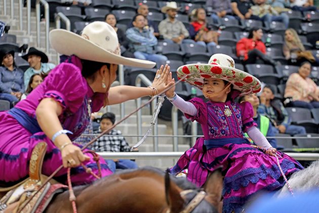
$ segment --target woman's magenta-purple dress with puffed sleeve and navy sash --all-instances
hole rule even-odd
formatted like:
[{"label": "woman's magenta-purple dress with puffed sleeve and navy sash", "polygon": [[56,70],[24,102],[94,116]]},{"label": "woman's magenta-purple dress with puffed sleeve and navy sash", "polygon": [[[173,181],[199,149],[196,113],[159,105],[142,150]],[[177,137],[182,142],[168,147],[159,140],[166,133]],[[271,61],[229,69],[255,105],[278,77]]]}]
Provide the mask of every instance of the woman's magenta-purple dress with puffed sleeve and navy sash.
[{"label": "woman's magenta-purple dress with puffed sleeve and navy sash", "polygon": [[[62,114],[59,120],[71,140],[78,137],[89,124],[88,100],[91,99],[92,112],[97,112],[103,105],[105,94],[94,93],[86,79],[82,77],[82,64],[79,58],[72,56],[69,62],[54,68],[45,81],[36,87],[26,99],[15,108],[0,113],[0,186],[10,186],[28,175],[29,160],[35,145],[45,141],[48,145],[42,166],[42,173],[49,176],[60,165],[60,151],[50,138],[39,128],[35,110],[43,98],[54,98],[61,103]],[[91,154],[87,154],[92,158]],[[100,158],[102,176],[111,174],[103,158]],[[87,167],[97,174],[97,164],[93,159],[85,161]],[[66,168],[62,168],[54,177],[66,183]],[[74,185],[88,184],[95,177],[86,173],[82,166],[71,169],[71,181]]]}]

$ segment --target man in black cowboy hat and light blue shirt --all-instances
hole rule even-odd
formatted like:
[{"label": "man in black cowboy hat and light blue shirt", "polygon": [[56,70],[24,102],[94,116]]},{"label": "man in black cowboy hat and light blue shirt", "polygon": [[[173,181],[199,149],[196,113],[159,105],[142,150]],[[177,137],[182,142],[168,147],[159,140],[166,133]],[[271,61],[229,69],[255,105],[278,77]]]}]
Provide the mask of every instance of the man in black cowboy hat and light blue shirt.
[{"label": "man in black cowboy hat and light blue shirt", "polygon": [[34,74],[48,73],[55,67],[53,63],[48,63],[48,56],[34,47],[30,47],[27,54],[22,58],[28,61],[30,67],[24,73],[24,85],[27,87],[29,80]]}]

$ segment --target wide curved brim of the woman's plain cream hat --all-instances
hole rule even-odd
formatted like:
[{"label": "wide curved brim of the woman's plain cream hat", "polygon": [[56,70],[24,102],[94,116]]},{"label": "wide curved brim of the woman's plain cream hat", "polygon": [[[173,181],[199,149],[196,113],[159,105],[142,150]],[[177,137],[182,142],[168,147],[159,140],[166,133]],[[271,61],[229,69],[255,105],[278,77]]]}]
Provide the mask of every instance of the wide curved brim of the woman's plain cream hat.
[{"label": "wide curved brim of the woman's plain cream hat", "polygon": [[153,68],[156,64],[152,61],[126,58],[116,55],[81,37],[81,35],[65,29],[51,30],[49,38],[52,48],[63,55],[76,55],[77,57],[85,60],[123,64],[142,68]]}]

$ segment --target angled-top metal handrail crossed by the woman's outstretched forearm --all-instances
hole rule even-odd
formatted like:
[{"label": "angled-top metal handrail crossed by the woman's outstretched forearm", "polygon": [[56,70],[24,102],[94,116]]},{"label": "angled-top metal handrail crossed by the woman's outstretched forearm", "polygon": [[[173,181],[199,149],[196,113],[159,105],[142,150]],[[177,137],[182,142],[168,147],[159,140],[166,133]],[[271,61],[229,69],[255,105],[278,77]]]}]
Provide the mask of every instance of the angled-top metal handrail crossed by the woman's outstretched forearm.
[{"label": "angled-top metal handrail crossed by the woman's outstretched forearm", "polygon": [[[135,79],[135,86],[136,87],[141,87],[141,82],[143,82],[145,85],[147,86],[151,86],[152,82],[143,74],[139,74],[136,79]],[[152,109],[154,110],[156,108],[156,101],[157,98],[154,98],[152,100]],[[142,105],[142,100],[141,98],[137,98],[136,99],[136,108],[140,108]],[[142,113],[141,111],[137,111],[137,134],[141,135],[142,134]],[[156,123],[154,124],[153,127],[153,135],[158,135],[158,126],[157,126],[157,120]],[[141,138],[139,138],[141,139]],[[157,137],[153,137],[153,148],[154,148],[154,152],[158,152],[158,138]]]}]

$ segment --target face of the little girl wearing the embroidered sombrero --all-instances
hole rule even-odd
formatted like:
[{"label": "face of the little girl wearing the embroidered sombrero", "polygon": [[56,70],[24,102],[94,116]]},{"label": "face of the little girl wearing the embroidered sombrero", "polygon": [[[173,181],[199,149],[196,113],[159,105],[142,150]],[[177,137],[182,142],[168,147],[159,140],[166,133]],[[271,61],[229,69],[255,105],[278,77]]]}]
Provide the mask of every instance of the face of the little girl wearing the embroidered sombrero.
[{"label": "face of the little girl wearing the embroidered sombrero", "polygon": [[[225,88],[225,83],[221,79],[216,79],[216,78],[204,79],[203,92],[207,93],[208,95],[220,92],[224,88]],[[230,88],[228,88],[225,92],[208,99],[215,102],[225,102],[227,99],[227,94],[229,92],[230,92]]]}]

